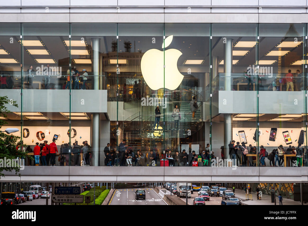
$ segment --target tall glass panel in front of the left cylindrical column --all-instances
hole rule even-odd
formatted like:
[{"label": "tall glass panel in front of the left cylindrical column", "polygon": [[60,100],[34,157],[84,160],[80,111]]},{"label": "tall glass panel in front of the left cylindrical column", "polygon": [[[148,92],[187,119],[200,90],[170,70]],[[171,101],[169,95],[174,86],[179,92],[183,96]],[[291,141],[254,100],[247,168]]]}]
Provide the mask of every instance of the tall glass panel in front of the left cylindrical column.
[{"label": "tall glass panel in front of the left cylindrical column", "polygon": [[110,121],[117,120],[116,24],[71,24],[70,53],[71,130],[76,131],[72,166],[114,165]]}]

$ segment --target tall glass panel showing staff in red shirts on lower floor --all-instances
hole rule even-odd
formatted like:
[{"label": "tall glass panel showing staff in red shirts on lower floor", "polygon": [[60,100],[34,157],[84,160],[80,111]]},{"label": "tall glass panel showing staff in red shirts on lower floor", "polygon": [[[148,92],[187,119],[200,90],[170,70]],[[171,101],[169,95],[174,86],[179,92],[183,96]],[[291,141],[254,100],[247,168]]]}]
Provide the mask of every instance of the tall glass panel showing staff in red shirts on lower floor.
[{"label": "tall glass panel showing staff in red shirts on lower floor", "polygon": [[30,165],[69,165],[70,127],[63,114],[70,111],[70,93],[63,88],[69,69],[68,37],[69,24],[22,24],[21,114],[23,130],[29,132],[23,141],[34,157]]}]

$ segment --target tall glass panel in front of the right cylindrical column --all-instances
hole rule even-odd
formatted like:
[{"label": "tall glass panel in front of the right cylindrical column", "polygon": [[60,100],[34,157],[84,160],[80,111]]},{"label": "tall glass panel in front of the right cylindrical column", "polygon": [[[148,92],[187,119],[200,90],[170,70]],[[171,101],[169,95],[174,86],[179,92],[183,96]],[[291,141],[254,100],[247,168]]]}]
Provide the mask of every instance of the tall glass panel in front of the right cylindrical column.
[{"label": "tall glass panel in front of the right cylindrical column", "polygon": [[256,166],[257,25],[212,24],[211,31],[212,150],[223,160],[217,166]]}]

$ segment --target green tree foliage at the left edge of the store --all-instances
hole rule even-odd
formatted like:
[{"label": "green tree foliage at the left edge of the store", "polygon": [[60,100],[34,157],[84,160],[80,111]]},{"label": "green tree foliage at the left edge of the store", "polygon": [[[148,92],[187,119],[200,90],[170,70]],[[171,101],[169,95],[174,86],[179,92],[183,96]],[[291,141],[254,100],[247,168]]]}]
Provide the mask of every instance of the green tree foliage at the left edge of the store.
[{"label": "green tree foliage at the left edge of the store", "polygon": [[[13,105],[14,107],[18,107],[18,105],[16,104],[16,101],[8,99],[7,96],[0,96],[0,117],[4,117],[4,118],[7,117],[6,113],[10,112],[6,107],[6,105],[8,104]],[[0,119],[0,131],[1,131],[1,127],[5,124],[7,124],[6,120]],[[25,151],[22,151],[22,148],[18,148],[18,150],[16,150],[16,145],[21,147],[20,143],[21,143],[21,137],[6,134],[4,132],[0,132],[0,159],[4,159],[4,158],[17,159],[17,157],[25,158],[27,153]],[[23,148],[23,150],[25,150],[25,147]],[[3,170],[10,171],[10,172],[15,170],[17,174],[20,168],[19,167],[0,167],[0,177],[4,176],[4,173],[2,173]]]}]

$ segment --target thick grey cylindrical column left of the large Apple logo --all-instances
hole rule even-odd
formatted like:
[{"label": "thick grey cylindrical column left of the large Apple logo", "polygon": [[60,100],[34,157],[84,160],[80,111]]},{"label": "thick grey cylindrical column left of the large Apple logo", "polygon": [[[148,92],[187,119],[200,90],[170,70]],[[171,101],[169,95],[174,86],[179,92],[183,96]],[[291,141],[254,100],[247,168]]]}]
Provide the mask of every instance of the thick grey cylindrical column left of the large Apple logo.
[{"label": "thick grey cylindrical column left of the large Apple logo", "polygon": [[[100,38],[92,38],[92,72],[93,89],[99,89],[99,50]],[[99,114],[92,114],[91,148],[92,148],[92,166],[99,166]]]}]

